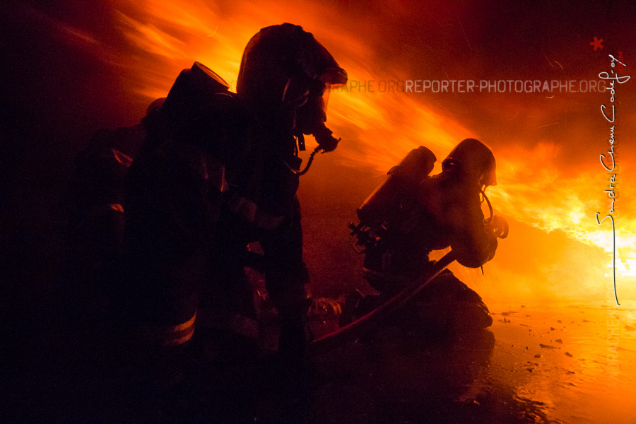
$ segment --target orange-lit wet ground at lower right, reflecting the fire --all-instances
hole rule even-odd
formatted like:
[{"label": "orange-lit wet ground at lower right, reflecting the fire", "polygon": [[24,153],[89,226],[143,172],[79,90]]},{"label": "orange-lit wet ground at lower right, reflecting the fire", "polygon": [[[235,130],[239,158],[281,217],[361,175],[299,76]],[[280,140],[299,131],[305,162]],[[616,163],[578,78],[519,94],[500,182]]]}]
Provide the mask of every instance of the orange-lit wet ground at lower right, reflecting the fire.
[{"label": "orange-lit wet ground at lower right, reflecting the fire", "polygon": [[636,309],[491,305],[488,380],[563,423],[635,423]]}]

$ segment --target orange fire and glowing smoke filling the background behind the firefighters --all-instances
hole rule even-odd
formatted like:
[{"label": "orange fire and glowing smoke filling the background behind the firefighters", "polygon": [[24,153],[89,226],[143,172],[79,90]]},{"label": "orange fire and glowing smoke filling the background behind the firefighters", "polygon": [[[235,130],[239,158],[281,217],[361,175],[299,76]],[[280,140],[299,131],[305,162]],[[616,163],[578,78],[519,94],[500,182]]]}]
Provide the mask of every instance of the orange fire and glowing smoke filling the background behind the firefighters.
[{"label": "orange fire and glowing smoke filling the background behind the firefighters", "polygon": [[[135,113],[129,124],[137,122],[153,99],[165,96],[179,71],[195,60],[216,71],[234,90],[249,38],[260,28],[283,22],[314,33],[350,81],[375,81],[376,90],[377,81],[418,79],[598,80],[598,73],[608,70],[609,50],[596,54],[587,33],[579,35],[572,25],[572,33],[560,41],[529,41],[527,57],[510,58],[505,49],[499,55],[483,53],[492,37],[489,27],[471,20],[471,11],[460,6],[431,8],[416,18],[404,1],[380,2],[366,11],[354,3],[274,1],[265,6],[247,1],[112,0],[102,13],[103,25],[111,28],[106,35],[90,25],[54,20],[49,24],[57,28],[57,40],[86,50],[114,70],[127,93],[122,107]],[[417,19],[430,27],[430,33],[441,35],[420,42],[409,38],[408,28],[401,29],[400,23]],[[444,34],[452,35],[451,40],[444,40]],[[625,58],[628,65],[630,59]],[[520,70],[512,61],[526,62],[528,69]],[[636,81],[619,88],[617,110],[620,196],[613,216],[620,300],[636,300],[636,158],[628,147],[636,98],[630,86]],[[331,93],[328,124],[343,141],[317,163],[341,167],[338,175],[345,176],[349,168],[367,170],[369,178],[379,182],[411,148],[428,146],[440,163],[462,139],[481,139],[497,157],[498,185],[488,193],[496,213],[510,221],[510,237],[500,242],[484,276],[478,270],[457,272],[486,298],[607,300],[612,232],[608,221],[597,225],[595,215],[600,212],[602,218],[610,208],[603,192],[609,175],[599,163],[599,155],[609,147],[608,126],[600,113],[608,97],[341,90]],[[312,204],[310,188],[318,184],[316,179],[324,180],[317,174],[329,172],[321,165],[315,168],[301,184],[305,211]],[[355,203],[368,194],[364,184],[358,184],[357,192],[356,183],[349,184],[358,196]]]}]

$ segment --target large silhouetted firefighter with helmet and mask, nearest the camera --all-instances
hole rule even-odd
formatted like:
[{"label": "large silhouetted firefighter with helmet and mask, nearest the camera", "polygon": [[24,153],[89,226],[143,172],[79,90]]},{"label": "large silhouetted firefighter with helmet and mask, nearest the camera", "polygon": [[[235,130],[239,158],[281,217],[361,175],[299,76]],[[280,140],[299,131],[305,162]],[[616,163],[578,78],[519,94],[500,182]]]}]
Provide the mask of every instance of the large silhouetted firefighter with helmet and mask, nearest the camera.
[{"label": "large silhouetted firefighter with helmet and mask, nearest the camera", "polygon": [[128,175],[124,309],[143,329],[139,340],[189,340],[201,293],[242,303],[237,312],[249,314],[244,258],[247,244],[259,242],[281,321],[279,350],[302,358],[298,150],[303,134],[314,136],[318,151],[336,148],[324,125],[326,94],[346,81],[313,35],[288,23],[249,41],[237,93],[201,64],[179,75]]}]

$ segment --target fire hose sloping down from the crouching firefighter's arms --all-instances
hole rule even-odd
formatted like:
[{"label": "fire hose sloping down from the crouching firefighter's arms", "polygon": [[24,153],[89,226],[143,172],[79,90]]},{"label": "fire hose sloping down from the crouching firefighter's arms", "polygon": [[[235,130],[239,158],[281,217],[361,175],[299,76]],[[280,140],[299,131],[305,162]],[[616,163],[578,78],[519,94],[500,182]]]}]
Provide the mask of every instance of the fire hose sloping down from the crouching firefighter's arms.
[{"label": "fire hose sloping down from the crouching firefighter's arms", "polygon": [[384,304],[377,307],[375,310],[372,310],[363,317],[356,319],[354,322],[351,322],[351,324],[343,326],[341,329],[325,334],[324,336],[312,341],[312,343],[308,346],[310,353],[316,354],[329,351],[331,348],[335,348],[336,346],[347,343],[348,341],[353,341],[365,334],[367,331],[372,330],[384,319],[387,319],[391,314],[394,314],[394,312],[399,310],[404,304],[413,300],[413,298],[415,298],[420,291],[423,290],[423,288],[429,285],[430,282],[440,275],[447,266],[452,264],[455,259],[455,253],[453,251],[448,252],[444,255],[444,257],[442,257],[442,259],[433,264],[432,268],[425,276],[418,278],[416,281],[411,283],[411,285],[408,285],[408,287],[404,288],[404,290],[387,302],[384,302]]}]

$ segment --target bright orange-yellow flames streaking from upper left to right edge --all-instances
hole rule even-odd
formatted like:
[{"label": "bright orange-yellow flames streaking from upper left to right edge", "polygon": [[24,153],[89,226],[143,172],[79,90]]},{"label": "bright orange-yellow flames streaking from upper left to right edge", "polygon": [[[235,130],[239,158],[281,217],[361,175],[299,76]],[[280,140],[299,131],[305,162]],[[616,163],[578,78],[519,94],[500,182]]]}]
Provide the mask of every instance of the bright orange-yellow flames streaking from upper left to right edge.
[{"label": "bright orange-yellow flames streaking from upper left to right edge", "polygon": [[[350,81],[405,79],[394,69],[378,66],[371,70],[372,64],[380,61],[375,52],[379,42],[360,40],[355,22],[351,17],[338,16],[337,8],[306,3],[301,10],[291,11],[284,2],[268,6],[238,3],[230,10],[223,4],[203,1],[113,0],[110,19],[123,39],[121,45],[110,48],[106,40],[90,31],[66,24],[62,28],[65,37],[74,37],[82,48],[92,49],[109,66],[119,69],[122,85],[144,107],[165,96],[179,71],[195,60],[208,65],[235,90],[242,49],[249,38],[260,28],[283,22],[312,31],[348,71]],[[368,167],[377,174],[387,172],[417,146],[428,146],[441,159],[462,139],[479,138],[479,134],[406,93],[380,93],[368,86],[364,90],[345,87],[331,93],[329,126],[344,140],[335,153],[341,165]],[[503,145],[498,140],[490,144],[497,146],[497,142]],[[608,211],[603,193],[607,176],[585,169],[566,175],[553,159],[560,153],[556,143],[538,140],[535,145],[530,150],[493,149],[498,185],[489,193],[497,213],[543,232],[563,232],[571,240],[613,252],[610,228],[595,220],[596,212],[602,218]],[[627,192],[629,183],[623,175],[628,174],[631,163],[624,161],[621,166],[619,187]],[[617,276],[634,278],[636,204],[630,199],[617,202]],[[577,263],[579,270],[589,269],[584,259]]]}]

